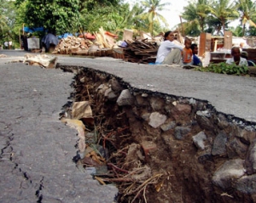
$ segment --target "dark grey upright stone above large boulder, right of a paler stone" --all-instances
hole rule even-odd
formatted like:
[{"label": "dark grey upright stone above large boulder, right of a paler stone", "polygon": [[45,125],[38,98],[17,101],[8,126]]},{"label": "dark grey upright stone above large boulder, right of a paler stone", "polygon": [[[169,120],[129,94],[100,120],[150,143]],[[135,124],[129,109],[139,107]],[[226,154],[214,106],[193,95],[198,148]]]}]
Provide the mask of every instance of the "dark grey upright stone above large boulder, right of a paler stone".
[{"label": "dark grey upright stone above large boulder, right of a paler stone", "polygon": [[228,137],[226,133],[220,132],[213,141],[212,155],[224,155],[226,153],[226,143]]}]

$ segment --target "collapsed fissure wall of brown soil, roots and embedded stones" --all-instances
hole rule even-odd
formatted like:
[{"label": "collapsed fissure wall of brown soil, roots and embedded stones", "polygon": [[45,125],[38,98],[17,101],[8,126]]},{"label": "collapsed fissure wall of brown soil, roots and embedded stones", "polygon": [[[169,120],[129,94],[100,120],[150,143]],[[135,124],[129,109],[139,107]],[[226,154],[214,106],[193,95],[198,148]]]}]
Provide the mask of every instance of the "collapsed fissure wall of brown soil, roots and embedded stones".
[{"label": "collapsed fissure wall of brown soil, roots and embedded stones", "polygon": [[102,71],[58,67],[77,73],[73,101],[90,101],[114,176],[102,182],[117,183],[119,202],[256,201],[255,123]]}]

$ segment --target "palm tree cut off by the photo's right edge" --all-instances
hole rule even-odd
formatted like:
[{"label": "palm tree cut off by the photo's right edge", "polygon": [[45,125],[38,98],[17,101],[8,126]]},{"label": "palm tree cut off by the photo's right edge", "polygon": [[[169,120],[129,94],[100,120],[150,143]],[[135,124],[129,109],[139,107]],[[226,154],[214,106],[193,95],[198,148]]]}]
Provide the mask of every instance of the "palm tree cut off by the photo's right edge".
[{"label": "palm tree cut off by the photo's right edge", "polygon": [[237,0],[236,4],[241,14],[242,36],[244,36],[247,23],[256,27],[252,20],[253,17],[256,17],[256,5],[251,0]]}]

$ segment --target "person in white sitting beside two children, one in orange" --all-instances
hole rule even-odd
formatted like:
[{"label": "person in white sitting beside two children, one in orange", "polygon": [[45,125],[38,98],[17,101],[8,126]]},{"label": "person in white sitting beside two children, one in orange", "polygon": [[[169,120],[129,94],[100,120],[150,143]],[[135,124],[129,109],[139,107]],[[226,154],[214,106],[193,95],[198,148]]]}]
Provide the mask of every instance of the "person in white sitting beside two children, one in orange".
[{"label": "person in white sitting beside two children, one in orange", "polygon": [[198,54],[197,44],[191,42],[189,38],[185,38],[183,48],[175,42],[175,32],[166,31],[164,42],[160,44],[155,64],[177,64],[177,65],[201,65],[201,60],[196,56]]}]

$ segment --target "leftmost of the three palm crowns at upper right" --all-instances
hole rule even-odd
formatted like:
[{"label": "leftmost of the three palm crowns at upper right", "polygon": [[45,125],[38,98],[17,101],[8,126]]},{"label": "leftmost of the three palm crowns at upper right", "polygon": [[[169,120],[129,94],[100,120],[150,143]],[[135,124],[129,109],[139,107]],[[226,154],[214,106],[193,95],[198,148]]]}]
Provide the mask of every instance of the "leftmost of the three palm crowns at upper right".
[{"label": "leftmost of the three palm crowns at upper right", "polygon": [[209,10],[207,9],[208,0],[194,0],[189,2],[189,5],[184,7],[184,12],[182,18],[187,20],[186,25],[190,25],[191,30],[198,30],[197,26],[201,32],[204,31],[206,25],[207,14]]}]

